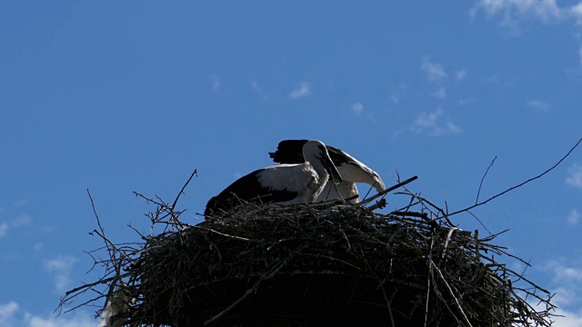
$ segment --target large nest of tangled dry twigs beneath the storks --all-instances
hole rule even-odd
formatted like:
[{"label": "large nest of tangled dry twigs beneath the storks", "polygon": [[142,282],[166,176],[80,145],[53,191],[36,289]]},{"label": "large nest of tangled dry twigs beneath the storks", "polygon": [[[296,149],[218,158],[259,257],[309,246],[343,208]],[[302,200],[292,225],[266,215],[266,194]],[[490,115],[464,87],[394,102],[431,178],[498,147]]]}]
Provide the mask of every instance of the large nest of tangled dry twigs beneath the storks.
[{"label": "large nest of tangled dry twigs beneath the storks", "polygon": [[406,196],[386,214],[363,203],[241,202],[196,225],[179,222],[176,203],[148,199],[166,232],[109,243],[111,258],[96,260],[104,278],[63,303],[107,284],[102,295],[135,299],[119,314],[130,326],[551,325],[551,295],[497,261],[513,257],[497,235],[461,231]]}]

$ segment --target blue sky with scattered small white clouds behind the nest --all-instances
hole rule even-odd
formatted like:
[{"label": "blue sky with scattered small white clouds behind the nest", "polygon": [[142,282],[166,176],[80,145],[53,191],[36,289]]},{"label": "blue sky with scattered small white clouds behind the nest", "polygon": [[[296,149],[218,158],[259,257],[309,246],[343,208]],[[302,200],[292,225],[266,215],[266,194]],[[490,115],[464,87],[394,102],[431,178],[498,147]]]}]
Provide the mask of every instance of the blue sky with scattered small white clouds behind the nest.
[{"label": "blue sky with scattered small white clouds behind the nest", "polygon": [[[450,211],[541,173],[582,137],[582,3],[299,1],[0,4],[0,327],[91,326],[55,316],[95,279],[94,196],[107,235],[135,241],[182,197],[270,165],[288,138],[356,156],[386,185]],[[543,179],[473,211],[527,277],[582,325],[582,148]],[[390,207],[399,199],[388,197]],[[470,215],[455,222],[483,228]],[[516,269],[523,266],[508,258]]]}]

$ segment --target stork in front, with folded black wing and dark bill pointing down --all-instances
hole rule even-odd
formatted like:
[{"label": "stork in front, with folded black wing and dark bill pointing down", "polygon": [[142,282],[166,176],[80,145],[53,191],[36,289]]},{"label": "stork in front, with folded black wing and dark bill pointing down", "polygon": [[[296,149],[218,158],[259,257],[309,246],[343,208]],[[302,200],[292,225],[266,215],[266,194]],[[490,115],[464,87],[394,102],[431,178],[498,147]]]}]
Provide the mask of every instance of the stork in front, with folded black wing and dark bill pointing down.
[{"label": "stork in front, with folded black wing and dark bill pointing down", "polygon": [[304,160],[266,167],[239,178],[208,201],[204,214],[235,206],[237,203],[233,194],[246,201],[260,197],[263,203],[313,203],[330,175],[334,182],[342,182],[325,144],[306,141],[301,148]]}]

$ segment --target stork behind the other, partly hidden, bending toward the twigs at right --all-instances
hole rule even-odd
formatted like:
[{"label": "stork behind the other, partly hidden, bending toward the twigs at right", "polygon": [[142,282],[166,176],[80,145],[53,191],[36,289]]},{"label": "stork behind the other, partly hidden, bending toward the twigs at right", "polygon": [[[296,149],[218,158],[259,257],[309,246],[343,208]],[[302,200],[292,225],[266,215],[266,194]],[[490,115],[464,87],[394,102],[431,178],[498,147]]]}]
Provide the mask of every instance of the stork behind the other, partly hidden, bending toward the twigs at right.
[{"label": "stork behind the other, partly hidden, bending toward the twigs at right", "polygon": [[[306,144],[307,140],[284,140],[281,141],[276,152],[269,153],[276,163],[302,163],[303,155],[301,147]],[[357,192],[356,183],[367,183],[377,192],[383,191],[386,186],[380,178],[380,175],[371,170],[364,163],[360,163],[353,156],[336,149],[333,146],[326,145],[329,157],[336,165],[337,171],[342,176],[342,183],[337,185],[327,184],[325,189],[319,193],[316,202],[331,199],[348,199],[356,196],[352,203],[358,203],[359,193]]]}]

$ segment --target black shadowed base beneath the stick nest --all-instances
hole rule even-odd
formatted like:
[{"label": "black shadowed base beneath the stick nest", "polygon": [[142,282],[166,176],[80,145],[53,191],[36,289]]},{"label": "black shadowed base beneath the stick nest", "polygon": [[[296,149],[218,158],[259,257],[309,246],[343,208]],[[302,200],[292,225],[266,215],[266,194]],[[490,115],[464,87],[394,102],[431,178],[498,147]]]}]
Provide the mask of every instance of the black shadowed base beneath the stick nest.
[{"label": "black shadowed base beneath the stick nest", "polygon": [[[188,314],[180,325],[202,326],[257,280],[212,282],[186,292],[184,310]],[[206,301],[196,301],[200,299]],[[394,282],[379,286],[375,278],[336,273],[278,274],[261,282],[245,302],[212,326],[416,326],[424,323],[425,308],[420,302],[420,290]]]}]

